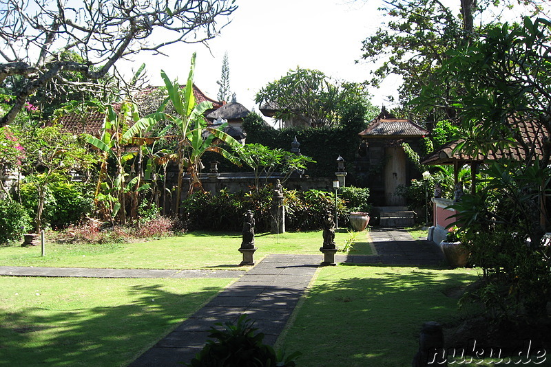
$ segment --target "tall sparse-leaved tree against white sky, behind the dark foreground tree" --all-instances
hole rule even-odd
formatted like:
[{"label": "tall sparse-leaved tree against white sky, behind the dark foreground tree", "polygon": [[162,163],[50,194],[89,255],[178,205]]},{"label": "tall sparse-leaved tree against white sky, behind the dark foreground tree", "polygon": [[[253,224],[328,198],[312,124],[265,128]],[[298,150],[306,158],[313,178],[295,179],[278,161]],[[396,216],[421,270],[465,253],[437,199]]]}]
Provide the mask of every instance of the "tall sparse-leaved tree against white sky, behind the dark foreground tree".
[{"label": "tall sparse-leaved tree against white sky, behind the dark foreground tree", "polygon": [[[379,65],[372,72],[370,84],[378,87],[391,74],[402,76],[399,102],[405,105],[422,88],[442,83],[435,72],[448,57],[448,50],[476,41],[488,26],[488,19],[495,21],[495,17],[482,16],[485,10],[492,6],[503,9],[512,2],[460,0],[461,15],[456,16],[453,8],[439,0],[386,1],[380,10],[390,19],[362,44],[362,59]],[[528,1],[527,5],[534,13],[541,10],[537,1]],[[479,26],[475,27],[477,19]],[[443,87],[448,90],[456,87],[453,80],[446,82]],[[432,121],[456,117],[453,108],[428,107],[415,113]]]}]

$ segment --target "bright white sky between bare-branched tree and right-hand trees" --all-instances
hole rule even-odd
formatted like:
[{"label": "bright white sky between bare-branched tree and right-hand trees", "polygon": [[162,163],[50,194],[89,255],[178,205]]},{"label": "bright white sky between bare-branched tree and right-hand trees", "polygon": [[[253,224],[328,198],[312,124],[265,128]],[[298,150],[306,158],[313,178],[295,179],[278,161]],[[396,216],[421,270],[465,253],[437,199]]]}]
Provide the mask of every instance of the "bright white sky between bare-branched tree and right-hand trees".
[{"label": "bright white sky between bare-branched tree and right-hand trees", "polygon": [[[236,0],[238,9],[220,36],[201,44],[180,44],[165,49],[165,56],[134,56],[132,65],[147,67],[151,85],[163,85],[160,69],[184,84],[191,54],[197,52],[194,82],[217,99],[222,58],[228,53],[229,85],[237,101],[253,111],[254,96],[289,70],[318,69],[349,82],[370,78],[373,65],[355,63],[362,56],[362,41],[382,23],[381,0]],[[221,21],[224,21],[221,19]],[[391,106],[384,96],[393,94],[399,79],[389,78],[384,90],[371,90],[375,105]],[[258,107],[256,107],[258,111]]]}]

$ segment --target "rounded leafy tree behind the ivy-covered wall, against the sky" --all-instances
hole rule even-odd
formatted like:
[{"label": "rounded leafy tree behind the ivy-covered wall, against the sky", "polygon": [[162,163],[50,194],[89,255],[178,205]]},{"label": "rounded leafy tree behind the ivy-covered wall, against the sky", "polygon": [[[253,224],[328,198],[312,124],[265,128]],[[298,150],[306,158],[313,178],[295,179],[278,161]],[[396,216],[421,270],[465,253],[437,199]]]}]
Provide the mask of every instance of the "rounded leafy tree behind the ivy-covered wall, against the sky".
[{"label": "rounded leafy tree behind the ivy-covered wall, against the sky", "polygon": [[332,82],[322,71],[300,68],[260,89],[256,102],[274,109],[276,120],[313,127],[337,126],[358,118],[362,125],[371,106],[362,85]]}]

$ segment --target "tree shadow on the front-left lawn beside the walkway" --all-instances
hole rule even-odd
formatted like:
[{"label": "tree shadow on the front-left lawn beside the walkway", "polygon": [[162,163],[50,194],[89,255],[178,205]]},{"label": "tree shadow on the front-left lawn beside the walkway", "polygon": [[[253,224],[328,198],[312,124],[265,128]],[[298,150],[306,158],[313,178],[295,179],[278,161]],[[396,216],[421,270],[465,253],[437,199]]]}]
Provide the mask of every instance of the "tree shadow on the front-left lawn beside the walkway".
[{"label": "tree shadow on the front-left lawn beside the walkway", "polygon": [[205,287],[182,296],[161,288],[129,287],[133,301],[116,307],[2,313],[0,365],[128,364],[219,291]]}]

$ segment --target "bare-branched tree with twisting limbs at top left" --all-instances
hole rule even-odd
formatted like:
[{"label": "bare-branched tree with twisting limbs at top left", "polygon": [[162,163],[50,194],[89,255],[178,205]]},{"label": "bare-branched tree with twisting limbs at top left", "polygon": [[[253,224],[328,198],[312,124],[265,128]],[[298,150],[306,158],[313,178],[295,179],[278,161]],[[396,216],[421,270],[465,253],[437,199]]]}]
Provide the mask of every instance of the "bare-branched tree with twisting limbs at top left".
[{"label": "bare-branched tree with twisting limbs at top left", "polygon": [[[23,78],[0,126],[12,122],[28,97],[49,82],[83,87],[64,79],[63,71],[98,80],[116,72],[116,61],[129,55],[162,54],[167,45],[214,38],[218,19],[236,10],[234,2],[85,0],[72,8],[66,1],[0,0],[0,85],[9,76]],[[158,34],[162,37],[152,41]],[[82,60],[64,60],[67,52]]]}]

